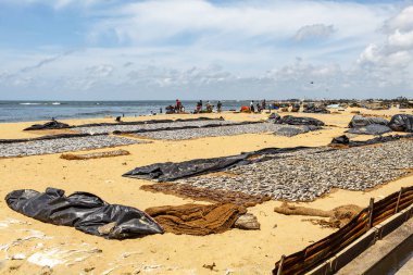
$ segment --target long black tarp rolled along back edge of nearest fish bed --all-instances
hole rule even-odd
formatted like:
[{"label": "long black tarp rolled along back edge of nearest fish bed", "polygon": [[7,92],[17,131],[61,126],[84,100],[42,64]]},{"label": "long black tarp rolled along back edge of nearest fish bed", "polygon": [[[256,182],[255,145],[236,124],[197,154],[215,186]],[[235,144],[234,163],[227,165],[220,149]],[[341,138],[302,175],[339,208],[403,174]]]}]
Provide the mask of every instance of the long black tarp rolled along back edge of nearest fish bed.
[{"label": "long black tarp rolled along back edge of nearest fish bed", "polygon": [[179,178],[222,171],[234,165],[246,165],[265,160],[260,158],[251,158],[254,155],[293,152],[306,148],[308,147],[265,148],[259,151],[222,158],[197,159],[178,163],[154,163],[147,166],[136,167],[135,170],[125,173],[123,176],[143,179],[155,179],[158,182],[171,182]]}]

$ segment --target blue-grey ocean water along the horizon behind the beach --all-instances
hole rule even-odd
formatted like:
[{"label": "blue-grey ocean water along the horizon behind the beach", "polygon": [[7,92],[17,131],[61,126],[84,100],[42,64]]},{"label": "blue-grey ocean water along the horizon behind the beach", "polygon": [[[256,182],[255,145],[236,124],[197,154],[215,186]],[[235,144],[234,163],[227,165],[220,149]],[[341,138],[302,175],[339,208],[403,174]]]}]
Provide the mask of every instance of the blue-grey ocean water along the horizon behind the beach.
[{"label": "blue-grey ocean water along the horizon behind the beach", "polygon": [[[206,101],[203,101],[205,105]],[[216,100],[210,101],[216,107]],[[222,100],[223,110],[239,110],[249,105],[250,101]],[[196,108],[196,100],[183,100],[187,112]],[[103,116],[138,116],[159,113],[160,108],[174,105],[174,100],[142,100],[142,101],[0,101],[0,123],[46,121],[65,118],[88,118]]]}]

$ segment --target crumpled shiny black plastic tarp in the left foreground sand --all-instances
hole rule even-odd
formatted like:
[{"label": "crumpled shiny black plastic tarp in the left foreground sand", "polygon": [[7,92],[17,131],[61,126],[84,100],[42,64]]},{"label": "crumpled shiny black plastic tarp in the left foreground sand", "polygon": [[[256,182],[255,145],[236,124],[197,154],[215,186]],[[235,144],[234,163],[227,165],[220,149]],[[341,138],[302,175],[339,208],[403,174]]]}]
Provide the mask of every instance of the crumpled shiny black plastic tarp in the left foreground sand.
[{"label": "crumpled shiny black plastic tarp in the left foreground sand", "polygon": [[47,188],[45,192],[15,190],[5,197],[8,205],[38,221],[73,226],[76,229],[108,239],[126,239],[162,234],[162,227],[145,212],[120,204],[109,204],[88,192]]}]

